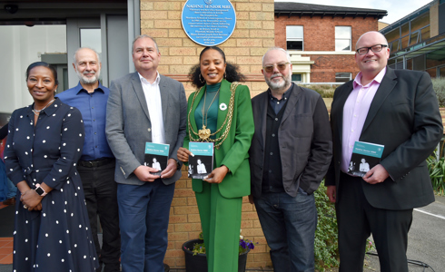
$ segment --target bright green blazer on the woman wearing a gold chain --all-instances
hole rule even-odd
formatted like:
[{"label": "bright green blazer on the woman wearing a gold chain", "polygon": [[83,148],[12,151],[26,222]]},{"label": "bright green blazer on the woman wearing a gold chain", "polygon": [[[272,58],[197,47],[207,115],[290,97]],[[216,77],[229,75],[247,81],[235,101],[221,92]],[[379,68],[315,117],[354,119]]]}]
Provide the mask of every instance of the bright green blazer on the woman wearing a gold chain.
[{"label": "bright green blazer on the woman wearing a gold chain", "polygon": [[[229,112],[229,102],[231,97],[230,91],[231,83],[223,80],[221,83],[219,105],[218,105],[218,121],[217,128],[223,124],[225,116]],[[203,87],[205,91],[205,86]],[[192,113],[190,114],[190,122],[193,131],[198,131],[196,121],[194,120],[194,111],[199,102],[203,98],[203,93],[200,92],[193,103]],[[187,114],[192,107],[194,92],[190,95],[188,100]],[[221,104],[227,105],[224,111],[221,110]],[[220,137],[223,129],[216,134],[216,138]],[[214,131],[212,131],[214,132]],[[249,167],[249,148],[251,146],[252,135],[254,132],[253,114],[251,94],[249,88],[245,85],[238,85],[235,92],[235,101],[233,107],[232,126],[229,134],[220,148],[214,150],[214,160],[216,167],[222,165],[227,166],[231,172],[227,173],[223,182],[218,184],[220,193],[224,198],[241,198],[251,194],[251,170]],[[187,134],[183,141],[183,147],[189,148],[189,127],[187,126]],[[192,179],[192,187],[195,192],[203,191],[203,180]]]}]

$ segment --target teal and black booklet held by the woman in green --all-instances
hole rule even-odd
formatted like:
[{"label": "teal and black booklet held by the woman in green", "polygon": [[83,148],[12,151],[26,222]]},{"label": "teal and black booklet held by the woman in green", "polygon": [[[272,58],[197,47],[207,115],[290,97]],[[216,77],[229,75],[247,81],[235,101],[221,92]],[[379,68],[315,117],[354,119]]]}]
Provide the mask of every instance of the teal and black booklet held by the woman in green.
[{"label": "teal and black booklet held by the woman in green", "polygon": [[213,142],[189,142],[189,178],[203,180],[213,171]]}]

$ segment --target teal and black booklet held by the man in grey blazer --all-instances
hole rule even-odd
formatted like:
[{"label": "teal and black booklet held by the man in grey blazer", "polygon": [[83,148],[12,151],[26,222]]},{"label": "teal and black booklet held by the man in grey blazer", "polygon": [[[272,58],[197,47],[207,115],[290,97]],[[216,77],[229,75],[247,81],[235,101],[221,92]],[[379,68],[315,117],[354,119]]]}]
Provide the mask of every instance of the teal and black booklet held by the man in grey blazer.
[{"label": "teal and black booklet held by the man in grey blazer", "polygon": [[161,175],[161,172],[167,168],[167,160],[170,145],[163,143],[145,142],[145,162],[143,165],[154,168],[153,175]]}]

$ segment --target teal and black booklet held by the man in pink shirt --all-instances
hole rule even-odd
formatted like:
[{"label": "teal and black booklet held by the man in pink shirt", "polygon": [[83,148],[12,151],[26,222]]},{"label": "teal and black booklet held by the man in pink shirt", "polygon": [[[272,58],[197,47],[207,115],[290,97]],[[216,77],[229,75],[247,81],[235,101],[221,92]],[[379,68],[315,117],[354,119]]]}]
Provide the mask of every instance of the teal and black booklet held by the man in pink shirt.
[{"label": "teal and black booklet held by the man in pink shirt", "polygon": [[367,171],[381,162],[384,145],[356,141],[352,151],[348,173],[352,176],[363,177]]}]

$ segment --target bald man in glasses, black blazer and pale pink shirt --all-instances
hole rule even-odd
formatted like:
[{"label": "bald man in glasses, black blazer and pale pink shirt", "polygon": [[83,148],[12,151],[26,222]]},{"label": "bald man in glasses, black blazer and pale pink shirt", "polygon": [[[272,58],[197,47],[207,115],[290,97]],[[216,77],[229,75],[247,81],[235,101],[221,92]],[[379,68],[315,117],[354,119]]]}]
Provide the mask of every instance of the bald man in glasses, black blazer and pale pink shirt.
[{"label": "bald man in glasses, black blazer and pale pink shirt", "polygon": [[[434,201],[425,159],[443,134],[430,75],[387,67],[390,49],[378,32],[361,35],[360,73],[335,91],[333,153],[326,175],[339,224],[340,271],[362,271],[372,234],[381,271],[408,271],[412,209]],[[347,174],[355,141],[384,146],[380,164],[361,177]]]}]

